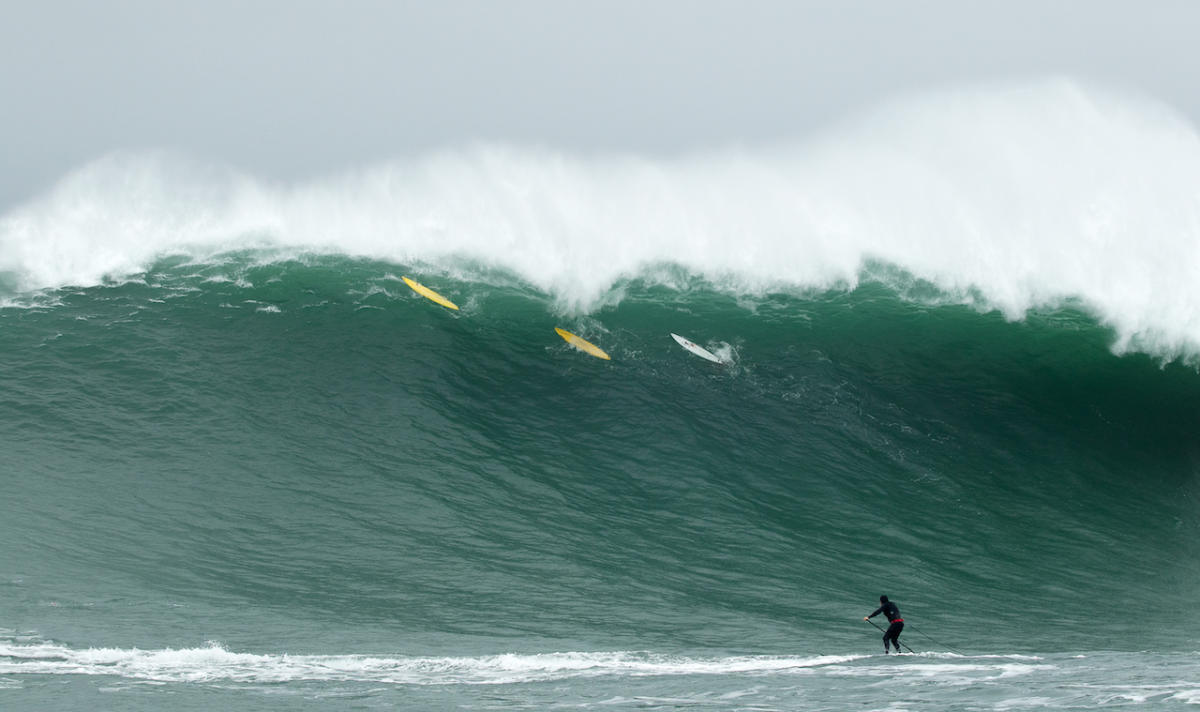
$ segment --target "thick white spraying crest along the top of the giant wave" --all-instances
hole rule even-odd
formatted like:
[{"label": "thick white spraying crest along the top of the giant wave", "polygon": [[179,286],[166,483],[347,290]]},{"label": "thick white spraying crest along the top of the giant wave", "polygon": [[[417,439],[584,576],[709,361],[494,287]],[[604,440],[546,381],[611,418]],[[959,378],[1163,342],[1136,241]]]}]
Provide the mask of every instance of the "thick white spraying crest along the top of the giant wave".
[{"label": "thick white spraying crest along the top of the giant wave", "polygon": [[0,283],[86,286],[254,249],[466,261],[580,312],[664,263],[757,293],[853,287],[881,261],[1010,318],[1078,299],[1118,351],[1196,354],[1200,136],[1153,101],[1052,79],[670,160],[476,146],[275,185],[113,155],[0,217]]}]

